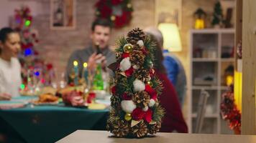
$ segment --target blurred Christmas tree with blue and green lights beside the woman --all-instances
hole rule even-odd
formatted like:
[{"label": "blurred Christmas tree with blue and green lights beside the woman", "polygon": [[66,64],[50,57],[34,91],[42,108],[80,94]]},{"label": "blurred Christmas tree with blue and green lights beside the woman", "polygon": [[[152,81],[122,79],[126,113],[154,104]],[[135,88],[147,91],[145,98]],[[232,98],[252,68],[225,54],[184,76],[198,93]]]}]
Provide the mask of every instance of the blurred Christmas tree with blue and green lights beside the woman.
[{"label": "blurred Christmas tree with blue and green lights beside the woman", "polygon": [[14,29],[19,31],[21,36],[22,49],[19,53],[19,61],[22,64],[21,89],[27,90],[31,84],[32,90],[39,90],[42,85],[51,84],[55,76],[52,64],[46,63],[36,49],[39,39],[37,31],[32,29],[33,17],[29,7],[22,6],[20,9],[15,9],[14,20]]}]

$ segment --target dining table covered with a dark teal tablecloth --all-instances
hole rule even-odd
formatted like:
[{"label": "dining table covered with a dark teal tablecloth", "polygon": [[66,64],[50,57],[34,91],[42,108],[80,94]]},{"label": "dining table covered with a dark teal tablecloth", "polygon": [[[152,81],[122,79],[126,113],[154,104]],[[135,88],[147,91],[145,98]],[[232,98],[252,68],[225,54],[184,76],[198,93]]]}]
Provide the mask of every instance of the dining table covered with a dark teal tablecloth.
[{"label": "dining table covered with a dark teal tablecloth", "polygon": [[[26,102],[32,97],[14,98],[12,102]],[[1,104],[1,103],[0,103]],[[15,109],[0,109],[0,127],[12,129],[28,143],[51,143],[77,129],[106,130],[109,109],[67,107],[59,104],[25,104]]]}]

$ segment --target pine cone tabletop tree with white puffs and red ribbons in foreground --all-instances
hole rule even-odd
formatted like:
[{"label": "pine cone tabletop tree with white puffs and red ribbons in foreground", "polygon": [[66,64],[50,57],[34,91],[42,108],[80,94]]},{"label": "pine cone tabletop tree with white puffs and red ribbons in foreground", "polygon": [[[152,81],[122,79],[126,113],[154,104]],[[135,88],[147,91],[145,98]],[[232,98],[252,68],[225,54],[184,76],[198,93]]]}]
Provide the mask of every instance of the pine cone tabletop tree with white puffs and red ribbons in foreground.
[{"label": "pine cone tabletop tree with white puffs and red ribbons in foreground", "polygon": [[116,63],[110,66],[115,76],[107,129],[115,137],[155,134],[164,116],[158,100],[163,84],[153,69],[156,44],[141,29],[134,29],[117,46]]}]

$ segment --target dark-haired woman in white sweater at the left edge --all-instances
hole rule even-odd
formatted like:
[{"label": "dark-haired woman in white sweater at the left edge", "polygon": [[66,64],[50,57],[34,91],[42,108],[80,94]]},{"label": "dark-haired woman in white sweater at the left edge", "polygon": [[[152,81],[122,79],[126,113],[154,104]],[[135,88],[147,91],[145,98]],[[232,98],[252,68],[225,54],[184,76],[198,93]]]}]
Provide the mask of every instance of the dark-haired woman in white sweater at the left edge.
[{"label": "dark-haired woman in white sweater at the left edge", "polygon": [[19,96],[22,84],[21,66],[17,55],[20,49],[20,37],[11,28],[0,30],[0,100]]}]

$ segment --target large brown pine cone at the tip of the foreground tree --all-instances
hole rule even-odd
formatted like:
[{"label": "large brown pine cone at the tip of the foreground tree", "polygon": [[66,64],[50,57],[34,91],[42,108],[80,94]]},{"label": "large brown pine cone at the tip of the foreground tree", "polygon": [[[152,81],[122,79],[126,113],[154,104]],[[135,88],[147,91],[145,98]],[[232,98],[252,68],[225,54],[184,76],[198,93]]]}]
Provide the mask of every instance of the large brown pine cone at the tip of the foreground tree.
[{"label": "large brown pine cone at the tip of the foreground tree", "polygon": [[137,44],[137,41],[145,40],[145,33],[142,31],[142,29],[137,28],[137,29],[133,29],[132,31],[129,31],[129,33],[127,34],[127,41],[131,44]]}]

